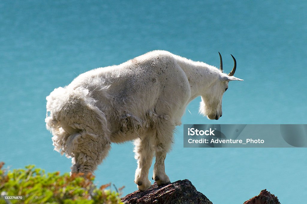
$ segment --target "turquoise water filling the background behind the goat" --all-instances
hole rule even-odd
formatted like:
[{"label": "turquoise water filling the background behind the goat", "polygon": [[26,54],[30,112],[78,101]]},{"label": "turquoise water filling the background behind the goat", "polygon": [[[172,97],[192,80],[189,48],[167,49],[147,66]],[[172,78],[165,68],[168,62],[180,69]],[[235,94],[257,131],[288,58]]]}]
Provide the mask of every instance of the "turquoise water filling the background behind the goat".
[{"label": "turquoise water filling the background behind the goat", "polygon": [[[307,2],[0,1],[0,161],[70,171],[45,129],[45,97],[87,70],[154,49],[230,71],[223,117],[208,120],[193,100],[182,124],[306,124]],[[133,145],[112,145],[99,184],[136,190]],[[213,203],[243,203],[267,189],[282,204],[304,203],[305,148],[183,148],[183,126],[166,158],[171,181],[189,179]],[[150,170],[152,171],[152,169]],[[151,178],[151,173],[150,173]]]}]

